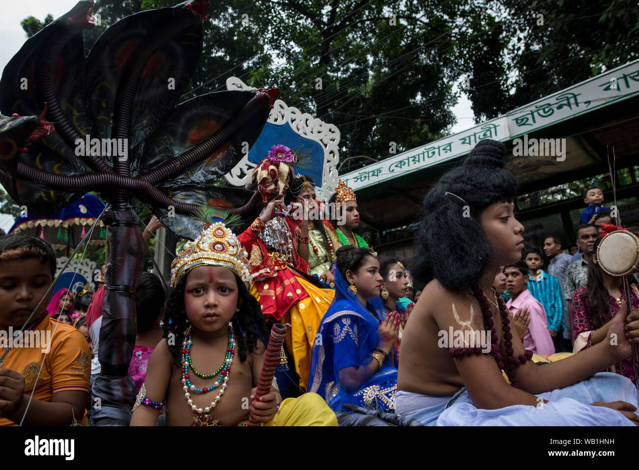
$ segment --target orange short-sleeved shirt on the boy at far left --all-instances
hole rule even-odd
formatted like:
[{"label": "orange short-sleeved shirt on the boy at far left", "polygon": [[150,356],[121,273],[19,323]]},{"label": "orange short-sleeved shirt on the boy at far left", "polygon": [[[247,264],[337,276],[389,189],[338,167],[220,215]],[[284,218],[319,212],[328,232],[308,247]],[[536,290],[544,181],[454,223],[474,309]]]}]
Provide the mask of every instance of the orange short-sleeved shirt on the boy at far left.
[{"label": "orange short-sleeved shirt on the boy at far left", "polygon": [[[14,327],[19,330],[20,327]],[[4,346],[8,333],[0,337]],[[3,349],[0,349],[2,351]],[[44,359],[44,363],[42,363]],[[40,365],[43,364],[42,371]],[[50,402],[54,393],[81,390],[89,393],[91,355],[89,343],[82,333],[71,325],[59,322],[48,315],[15,341],[3,361],[3,368],[12,369],[24,376],[24,395],[30,396],[36,377],[38,383],[33,399]],[[38,376],[38,372],[40,375]],[[86,417],[82,417],[82,420]],[[80,421],[80,419],[79,419]],[[0,426],[16,426],[6,418],[0,418]]]}]

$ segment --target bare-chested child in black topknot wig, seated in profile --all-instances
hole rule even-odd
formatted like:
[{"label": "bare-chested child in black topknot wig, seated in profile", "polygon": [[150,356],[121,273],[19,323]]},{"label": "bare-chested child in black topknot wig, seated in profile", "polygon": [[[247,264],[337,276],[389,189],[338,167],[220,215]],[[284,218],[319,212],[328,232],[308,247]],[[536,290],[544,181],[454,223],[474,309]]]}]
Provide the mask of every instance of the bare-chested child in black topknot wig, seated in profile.
[{"label": "bare-chested child in black topknot wig, seated in profile", "polygon": [[[491,288],[497,268],[519,260],[523,248],[524,228],[513,215],[517,182],[504,154],[502,143],[480,141],[424,198],[424,249],[412,268],[428,284],[402,339],[396,413],[426,425],[636,425],[635,385],[597,372],[631,355],[639,311],[627,315],[622,304],[607,334],[617,343],[550,364],[530,361],[532,352],[511,330]],[[472,217],[463,216],[468,208]],[[472,333],[480,344],[438,347],[438,332],[449,329]]]}]

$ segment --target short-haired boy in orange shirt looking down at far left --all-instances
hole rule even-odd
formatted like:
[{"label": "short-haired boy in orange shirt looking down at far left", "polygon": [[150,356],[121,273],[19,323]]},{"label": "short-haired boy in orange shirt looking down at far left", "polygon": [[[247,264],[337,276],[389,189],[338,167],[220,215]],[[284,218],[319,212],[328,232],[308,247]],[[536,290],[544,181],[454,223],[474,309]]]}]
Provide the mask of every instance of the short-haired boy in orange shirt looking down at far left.
[{"label": "short-haired boy in orange shirt looking down at far left", "polygon": [[0,425],[68,426],[85,417],[89,345],[49,317],[50,295],[40,303],[55,272],[56,254],[44,240],[0,238],[0,357],[16,338],[0,364]]}]

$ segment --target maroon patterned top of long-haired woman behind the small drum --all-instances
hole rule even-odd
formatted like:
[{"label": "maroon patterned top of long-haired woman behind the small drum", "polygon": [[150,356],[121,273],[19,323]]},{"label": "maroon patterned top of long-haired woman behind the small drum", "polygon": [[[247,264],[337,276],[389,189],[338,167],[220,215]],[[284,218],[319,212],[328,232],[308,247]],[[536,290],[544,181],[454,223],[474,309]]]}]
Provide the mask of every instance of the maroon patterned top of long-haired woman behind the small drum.
[{"label": "maroon patterned top of long-haired woman behind the small drum", "polygon": [[[625,295],[624,288],[623,287],[620,288],[620,291],[621,291],[621,297],[623,298]],[[613,318],[615,317],[615,315],[617,315],[617,312],[619,311],[619,304],[617,304],[617,301],[615,300],[614,297],[612,297],[612,295],[608,295],[608,297],[609,299],[608,299],[607,313],[608,315],[610,315],[610,318]],[[632,304],[633,309],[639,308],[639,299],[637,299],[637,296],[632,288],[630,290],[630,302]],[[573,306],[573,336],[576,339],[580,333],[589,332],[588,343],[585,345],[585,347],[583,347],[583,349],[586,349],[587,347],[592,346],[592,343],[590,342],[590,336],[592,336],[592,332],[596,329],[592,325],[592,319],[591,319],[592,313],[590,311],[590,298],[588,296],[588,291],[586,286],[578,288],[576,291],[574,291],[572,306]],[[604,313],[599,313],[599,318],[601,319],[601,322],[603,324],[606,324],[607,320]],[[624,359],[620,363],[615,364],[613,367],[614,367],[613,372],[616,372],[619,375],[623,375],[624,377],[627,377],[628,379],[635,382],[635,364],[633,364],[632,357],[626,357],[626,359]]]}]

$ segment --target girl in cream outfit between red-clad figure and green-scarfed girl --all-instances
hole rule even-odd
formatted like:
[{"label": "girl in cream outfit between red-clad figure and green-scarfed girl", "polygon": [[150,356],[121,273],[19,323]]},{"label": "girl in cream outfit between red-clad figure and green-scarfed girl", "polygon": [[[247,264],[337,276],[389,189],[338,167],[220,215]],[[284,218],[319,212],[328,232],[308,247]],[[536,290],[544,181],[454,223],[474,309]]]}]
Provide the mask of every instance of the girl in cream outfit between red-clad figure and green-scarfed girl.
[{"label": "girl in cream outfit between red-clad figure and green-scarfed girl", "polygon": [[304,205],[309,219],[309,274],[318,276],[325,283],[333,283],[330,267],[335,253],[342,246],[335,227],[323,217],[323,207],[317,200],[315,182],[311,176],[297,176],[288,189],[284,203],[298,202]]}]

